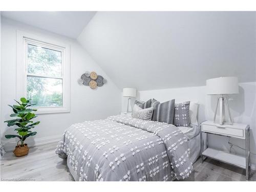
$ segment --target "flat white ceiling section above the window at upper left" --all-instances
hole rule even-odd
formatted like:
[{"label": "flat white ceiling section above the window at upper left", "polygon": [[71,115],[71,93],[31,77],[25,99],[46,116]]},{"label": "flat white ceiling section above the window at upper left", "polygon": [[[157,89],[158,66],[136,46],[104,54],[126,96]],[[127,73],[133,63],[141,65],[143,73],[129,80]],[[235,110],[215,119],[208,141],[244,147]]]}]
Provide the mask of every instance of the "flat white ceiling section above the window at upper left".
[{"label": "flat white ceiling section above the window at upper left", "polygon": [[95,11],[1,11],[1,15],[40,29],[77,38]]}]

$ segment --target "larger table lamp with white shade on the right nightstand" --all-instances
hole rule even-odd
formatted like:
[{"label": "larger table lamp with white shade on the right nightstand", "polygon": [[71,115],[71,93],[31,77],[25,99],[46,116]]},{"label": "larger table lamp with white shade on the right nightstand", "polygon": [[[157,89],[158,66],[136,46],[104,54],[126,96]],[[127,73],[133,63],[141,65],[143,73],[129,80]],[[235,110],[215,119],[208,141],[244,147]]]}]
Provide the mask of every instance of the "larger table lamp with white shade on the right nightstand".
[{"label": "larger table lamp with white shade on the right nightstand", "polygon": [[[220,95],[217,101],[217,106],[214,114],[214,122],[222,124],[233,124],[233,120],[230,115],[230,110],[227,102],[227,98],[224,97],[227,94],[238,94],[238,77],[219,77],[206,80],[207,95]],[[228,111],[229,122],[225,120],[225,105]],[[220,110],[220,119],[216,121],[216,115]]]}]

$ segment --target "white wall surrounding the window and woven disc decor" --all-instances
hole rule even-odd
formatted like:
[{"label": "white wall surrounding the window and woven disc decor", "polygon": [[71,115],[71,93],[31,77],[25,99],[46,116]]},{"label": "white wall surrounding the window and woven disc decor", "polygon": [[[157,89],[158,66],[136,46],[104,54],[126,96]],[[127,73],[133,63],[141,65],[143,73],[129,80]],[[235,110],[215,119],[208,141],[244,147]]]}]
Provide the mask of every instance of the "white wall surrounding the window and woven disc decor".
[{"label": "white wall surrounding the window and woven disc decor", "polygon": [[[2,17],[1,28],[1,128],[2,142],[7,150],[14,147],[14,139],[5,139],[4,135],[14,133],[13,127],[7,127],[4,120],[8,120],[11,109],[7,104],[14,104],[16,90],[16,30],[44,35],[55,38],[71,45],[71,110],[70,113],[39,115],[37,120],[41,123],[35,127],[37,135],[29,137],[27,143],[42,144],[56,141],[63,131],[71,124],[85,120],[96,120],[118,114],[121,109],[121,91],[112,80],[101,70],[97,63],[78,44],[76,40],[59,36],[47,31],[14,22]],[[85,71],[95,71],[108,80],[108,83],[97,90],[86,86],[79,86],[77,79]]]}]

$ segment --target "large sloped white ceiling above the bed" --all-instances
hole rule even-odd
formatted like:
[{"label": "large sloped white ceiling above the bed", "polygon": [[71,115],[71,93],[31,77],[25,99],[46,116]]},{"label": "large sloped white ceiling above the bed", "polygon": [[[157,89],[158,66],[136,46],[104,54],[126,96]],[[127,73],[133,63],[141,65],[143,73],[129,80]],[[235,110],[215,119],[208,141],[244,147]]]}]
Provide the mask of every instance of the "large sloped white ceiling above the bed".
[{"label": "large sloped white ceiling above the bed", "polygon": [[122,89],[255,81],[254,12],[97,12],[78,37]]}]

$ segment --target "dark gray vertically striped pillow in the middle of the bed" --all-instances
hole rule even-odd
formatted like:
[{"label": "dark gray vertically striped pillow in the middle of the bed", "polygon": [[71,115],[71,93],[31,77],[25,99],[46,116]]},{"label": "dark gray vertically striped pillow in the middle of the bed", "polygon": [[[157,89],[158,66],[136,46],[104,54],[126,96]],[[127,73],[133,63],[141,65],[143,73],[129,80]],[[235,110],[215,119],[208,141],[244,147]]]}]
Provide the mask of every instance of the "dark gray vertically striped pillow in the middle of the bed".
[{"label": "dark gray vertically striped pillow in the middle of the bed", "polygon": [[154,108],[153,121],[165,122],[173,124],[174,122],[174,110],[175,99],[160,103],[156,99],[152,100],[151,106]]}]

